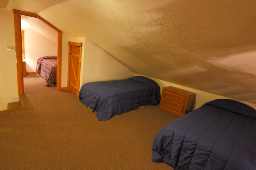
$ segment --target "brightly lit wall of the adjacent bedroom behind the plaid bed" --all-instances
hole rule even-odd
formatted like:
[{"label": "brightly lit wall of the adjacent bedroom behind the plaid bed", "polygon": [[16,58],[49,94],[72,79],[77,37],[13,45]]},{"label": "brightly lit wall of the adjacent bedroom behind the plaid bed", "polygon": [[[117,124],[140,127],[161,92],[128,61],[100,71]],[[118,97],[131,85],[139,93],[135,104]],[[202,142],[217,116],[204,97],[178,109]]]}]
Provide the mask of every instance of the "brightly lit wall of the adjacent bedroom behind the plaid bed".
[{"label": "brightly lit wall of the adjacent bedroom behind the plaid bed", "polygon": [[57,56],[57,42],[39,34],[25,24],[22,24],[21,27],[24,30],[26,70],[27,72],[35,72],[38,58]]}]

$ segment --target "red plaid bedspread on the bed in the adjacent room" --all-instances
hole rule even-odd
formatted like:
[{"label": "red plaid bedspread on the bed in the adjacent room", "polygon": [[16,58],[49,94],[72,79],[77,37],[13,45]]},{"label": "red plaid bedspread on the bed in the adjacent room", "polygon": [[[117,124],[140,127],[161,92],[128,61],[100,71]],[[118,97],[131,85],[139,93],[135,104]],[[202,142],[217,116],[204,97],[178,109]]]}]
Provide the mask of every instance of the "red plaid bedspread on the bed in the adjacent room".
[{"label": "red plaid bedspread on the bed in the adjacent room", "polygon": [[46,79],[44,86],[50,86],[57,81],[57,56],[38,58],[36,73]]}]

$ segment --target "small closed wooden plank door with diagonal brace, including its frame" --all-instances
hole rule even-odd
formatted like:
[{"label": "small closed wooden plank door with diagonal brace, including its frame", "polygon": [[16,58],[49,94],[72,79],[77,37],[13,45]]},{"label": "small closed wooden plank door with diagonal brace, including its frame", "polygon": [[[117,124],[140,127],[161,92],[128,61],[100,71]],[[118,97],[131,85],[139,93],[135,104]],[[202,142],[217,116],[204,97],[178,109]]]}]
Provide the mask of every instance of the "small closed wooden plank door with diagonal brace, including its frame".
[{"label": "small closed wooden plank door with diagonal brace, including its frame", "polygon": [[80,89],[82,42],[69,42],[68,90],[78,96]]}]

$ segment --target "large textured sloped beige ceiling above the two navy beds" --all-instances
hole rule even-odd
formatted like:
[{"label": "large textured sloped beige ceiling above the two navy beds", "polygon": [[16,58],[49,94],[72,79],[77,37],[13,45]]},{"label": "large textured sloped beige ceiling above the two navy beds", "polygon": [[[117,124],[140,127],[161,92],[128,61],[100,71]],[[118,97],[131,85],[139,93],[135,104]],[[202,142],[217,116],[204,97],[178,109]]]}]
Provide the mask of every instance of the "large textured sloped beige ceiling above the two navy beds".
[{"label": "large textured sloped beige ceiling above the two navy beds", "polygon": [[[1,4],[0,4],[1,5]],[[132,72],[256,104],[255,0],[10,0]]]}]

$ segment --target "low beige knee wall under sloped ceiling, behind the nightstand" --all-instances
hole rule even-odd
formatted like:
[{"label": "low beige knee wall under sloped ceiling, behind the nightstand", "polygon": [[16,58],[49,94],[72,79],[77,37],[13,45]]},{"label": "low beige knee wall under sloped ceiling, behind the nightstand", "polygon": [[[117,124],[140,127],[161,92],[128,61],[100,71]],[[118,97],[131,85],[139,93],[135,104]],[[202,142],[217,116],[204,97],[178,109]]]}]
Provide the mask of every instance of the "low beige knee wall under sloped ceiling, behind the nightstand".
[{"label": "low beige knee wall under sloped ceiling, behind the nightstand", "polygon": [[[134,76],[137,76],[137,75],[139,75],[139,74],[134,74]],[[144,76],[144,75],[142,75],[142,76]],[[196,89],[192,89],[192,88],[189,88],[189,87],[177,85],[177,84],[170,83],[170,82],[167,82],[167,81],[163,81],[163,80],[159,80],[159,79],[155,79],[155,78],[151,78],[151,77],[148,77],[148,78],[156,81],[156,83],[159,84],[160,89],[161,89],[161,94],[162,94],[162,88],[163,87],[168,87],[168,86],[174,86],[174,87],[177,87],[177,88],[180,88],[180,89],[184,89],[184,90],[196,93],[195,109],[198,108],[198,107],[201,107],[204,103],[215,100],[215,99],[219,99],[219,98],[232,99],[232,98],[228,98],[228,97],[219,96],[219,95],[215,95],[215,94],[212,94],[212,93],[204,92],[204,91],[201,91],[201,90],[196,90]],[[235,100],[235,99],[232,99],[232,100]],[[238,101],[238,100],[236,100],[236,101]],[[243,102],[243,101],[240,101],[240,102],[245,103],[245,104],[247,104],[247,105],[256,109],[256,104],[247,103],[247,102]]]}]

